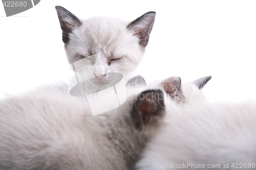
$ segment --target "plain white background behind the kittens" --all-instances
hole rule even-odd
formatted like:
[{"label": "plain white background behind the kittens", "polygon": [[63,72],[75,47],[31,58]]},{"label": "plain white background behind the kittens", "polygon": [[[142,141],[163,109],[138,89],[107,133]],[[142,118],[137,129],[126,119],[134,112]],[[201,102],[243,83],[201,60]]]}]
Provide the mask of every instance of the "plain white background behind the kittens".
[{"label": "plain white background behind the kittens", "polygon": [[150,42],[138,69],[147,82],[170,76],[212,80],[210,101],[256,99],[256,1],[41,0],[6,17],[0,5],[0,97],[69,75],[54,6],[86,19],[107,15],[132,21],[156,11]]}]

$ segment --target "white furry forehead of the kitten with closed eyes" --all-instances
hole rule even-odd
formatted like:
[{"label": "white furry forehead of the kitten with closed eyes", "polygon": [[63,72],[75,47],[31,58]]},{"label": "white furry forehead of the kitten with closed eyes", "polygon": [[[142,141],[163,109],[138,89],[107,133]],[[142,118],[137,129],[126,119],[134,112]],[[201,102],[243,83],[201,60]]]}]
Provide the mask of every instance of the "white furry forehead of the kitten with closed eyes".
[{"label": "white furry forehead of the kitten with closed eyes", "polygon": [[66,47],[76,46],[76,51],[88,50],[91,55],[99,53],[100,50],[111,54],[113,50],[118,51],[118,48],[128,46],[127,43],[136,44],[136,39],[127,31],[126,25],[127,22],[112,17],[82,20],[81,27],[73,31]]}]

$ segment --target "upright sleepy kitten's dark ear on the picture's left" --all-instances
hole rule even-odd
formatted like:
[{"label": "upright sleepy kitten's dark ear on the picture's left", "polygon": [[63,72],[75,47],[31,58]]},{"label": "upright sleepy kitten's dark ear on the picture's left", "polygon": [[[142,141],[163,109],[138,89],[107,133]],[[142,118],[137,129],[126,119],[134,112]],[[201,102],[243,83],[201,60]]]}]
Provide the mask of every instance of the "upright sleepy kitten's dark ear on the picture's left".
[{"label": "upright sleepy kitten's dark ear on the picture's left", "polygon": [[60,28],[62,30],[62,41],[64,43],[69,42],[69,34],[72,33],[73,29],[81,26],[81,21],[67,9],[55,6],[58,14]]}]

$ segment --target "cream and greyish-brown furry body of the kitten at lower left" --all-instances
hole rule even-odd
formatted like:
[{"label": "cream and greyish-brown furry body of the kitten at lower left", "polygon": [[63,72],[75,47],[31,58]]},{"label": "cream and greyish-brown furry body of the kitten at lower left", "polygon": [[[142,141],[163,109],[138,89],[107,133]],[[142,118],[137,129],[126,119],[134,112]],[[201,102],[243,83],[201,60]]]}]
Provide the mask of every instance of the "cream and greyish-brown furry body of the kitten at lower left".
[{"label": "cream and greyish-brown furry body of the kitten at lower left", "polygon": [[131,103],[90,116],[54,88],[2,101],[0,169],[129,169],[146,140],[131,126]]}]

